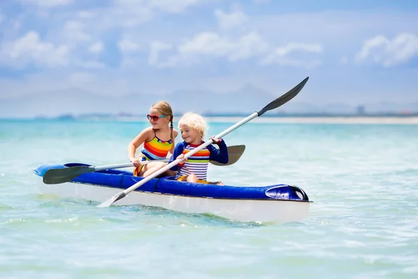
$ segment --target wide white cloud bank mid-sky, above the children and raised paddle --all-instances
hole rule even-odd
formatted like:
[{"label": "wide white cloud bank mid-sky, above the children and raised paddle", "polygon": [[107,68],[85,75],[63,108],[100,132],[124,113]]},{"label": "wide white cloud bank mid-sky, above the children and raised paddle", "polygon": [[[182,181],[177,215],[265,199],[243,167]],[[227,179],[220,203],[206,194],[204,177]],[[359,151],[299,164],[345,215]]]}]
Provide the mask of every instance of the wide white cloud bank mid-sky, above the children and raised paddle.
[{"label": "wide white cloud bank mid-sky, above the children and raised paddle", "polygon": [[[201,63],[203,59],[210,57],[224,58],[234,62],[266,56],[260,61],[261,65],[277,63],[283,66],[314,68],[319,66],[321,61],[304,56],[309,53],[323,52],[322,45],[302,43],[289,43],[272,50],[272,47],[256,32],[247,33],[240,38],[220,36],[214,32],[202,32],[178,45],[176,53],[168,56],[165,61],[159,58],[160,51],[172,49],[171,45],[154,45],[151,49],[150,65],[173,67]],[[305,55],[299,59],[292,59],[291,54]]]}]

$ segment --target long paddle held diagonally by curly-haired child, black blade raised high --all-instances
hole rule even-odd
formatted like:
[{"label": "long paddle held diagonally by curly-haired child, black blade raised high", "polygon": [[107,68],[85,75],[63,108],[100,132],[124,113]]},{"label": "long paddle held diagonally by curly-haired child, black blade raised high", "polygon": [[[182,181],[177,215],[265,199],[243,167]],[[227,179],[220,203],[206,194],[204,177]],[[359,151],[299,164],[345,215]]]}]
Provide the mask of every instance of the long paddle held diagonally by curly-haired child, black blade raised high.
[{"label": "long paddle held diagonally by curly-haired child, black blade raised high", "polygon": [[[294,98],[297,95],[297,93],[299,93],[302,90],[303,86],[307,83],[308,79],[309,79],[309,77],[305,78],[304,80],[302,80],[302,82],[300,82],[300,84],[297,84],[297,86],[295,86],[293,89],[291,89],[290,91],[288,91],[284,95],[280,96],[276,100],[273,100],[271,103],[269,103],[268,105],[266,105],[265,107],[263,107],[261,110],[258,110],[258,112],[254,112],[254,114],[251,114],[250,116],[247,116],[247,118],[242,119],[242,121],[236,123],[235,125],[231,126],[228,129],[224,130],[222,133],[219,133],[218,135],[216,135],[214,137],[214,139],[217,140],[217,139],[219,139],[219,137],[224,137],[224,135],[227,135],[227,134],[231,133],[231,131],[235,130],[236,128],[238,128],[238,127],[240,127],[242,125],[244,125],[245,123],[247,123],[251,119],[254,119],[257,116],[263,115],[268,110],[274,110],[275,108],[280,107],[281,105],[284,105],[289,100],[291,100],[292,98]],[[207,142],[205,142],[205,143],[197,146],[192,151],[189,151],[185,155],[185,159],[189,158],[194,153],[200,151],[201,149],[205,148],[209,144],[212,144],[212,142],[213,142],[212,140],[208,140]],[[173,162],[169,163],[167,166],[162,167],[161,169],[157,170],[157,172],[154,172],[150,176],[147,176],[146,178],[142,179],[141,181],[135,183],[134,185],[130,186],[130,188],[127,188],[126,190],[123,190],[120,193],[114,195],[110,199],[107,199],[107,201],[102,202],[101,204],[98,205],[98,207],[108,207],[108,206],[111,206],[111,204],[114,204],[114,202],[117,202],[119,199],[123,199],[123,197],[125,197],[128,193],[132,192],[133,190],[137,189],[139,186],[144,185],[146,182],[148,182],[151,179],[159,176],[160,174],[162,174],[165,171],[167,171],[167,169],[170,169],[171,167],[177,165],[178,163],[180,163],[182,161],[183,160],[181,160],[181,159],[173,160]]]}]

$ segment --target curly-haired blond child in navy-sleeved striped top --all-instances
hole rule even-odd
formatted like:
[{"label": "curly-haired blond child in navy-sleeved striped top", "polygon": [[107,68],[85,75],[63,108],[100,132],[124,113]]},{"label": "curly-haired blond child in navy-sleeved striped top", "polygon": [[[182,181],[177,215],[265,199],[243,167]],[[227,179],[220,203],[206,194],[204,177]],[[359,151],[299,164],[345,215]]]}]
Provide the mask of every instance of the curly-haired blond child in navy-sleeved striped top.
[{"label": "curly-haired blond child in navy-sleeved striped top", "polygon": [[[203,144],[203,137],[205,136],[207,125],[206,121],[199,114],[187,112],[178,122],[178,128],[180,129],[181,137],[184,142],[177,144],[170,162],[172,162],[174,158],[184,159],[187,152],[192,151],[197,146]],[[212,138],[213,137],[210,139]],[[190,156],[185,161],[171,167],[171,171],[177,171],[174,179],[177,181],[224,185],[220,181],[206,181],[208,163],[210,160],[215,160],[224,164],[228,163],[228,149],[224,140],[218,139],[215,141],[215,144],[219,146],[219,150],[210,144],[206,146],[206,148],[194,153],[193,156]]]}]

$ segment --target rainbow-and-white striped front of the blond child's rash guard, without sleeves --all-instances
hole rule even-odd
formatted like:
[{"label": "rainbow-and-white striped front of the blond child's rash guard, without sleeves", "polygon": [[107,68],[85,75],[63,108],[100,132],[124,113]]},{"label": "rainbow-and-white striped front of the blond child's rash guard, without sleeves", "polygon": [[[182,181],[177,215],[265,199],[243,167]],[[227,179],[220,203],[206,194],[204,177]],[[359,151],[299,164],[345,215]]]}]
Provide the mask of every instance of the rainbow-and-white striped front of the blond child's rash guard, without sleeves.
[{"label": "rainbow-and-white striped front of the blond child's rash guard, without sleeves", "polygon": [[[203,142],[202,142],[203,143]],[[187,154],[193,149],[195,149],[200,144],[188,144],[183,150],[183,154]],[[197,176],[198,179],[205,180],[208,175],[208,165],[209,165],[209,158],[210,158],[210,151],[206,147],[200,151],[197,151],[187,158],[185,163],[178,164],[178,172],[176,174],[176,178],[178,179],[180,176],[194,174]]]}]

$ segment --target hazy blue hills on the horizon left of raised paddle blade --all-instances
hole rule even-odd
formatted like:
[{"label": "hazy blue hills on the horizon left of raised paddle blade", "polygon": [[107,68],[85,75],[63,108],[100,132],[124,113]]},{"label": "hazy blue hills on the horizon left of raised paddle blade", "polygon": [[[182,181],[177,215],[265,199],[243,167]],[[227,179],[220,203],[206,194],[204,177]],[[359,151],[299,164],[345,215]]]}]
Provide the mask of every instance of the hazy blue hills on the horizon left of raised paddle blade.
[{"label": "hazy blue hills on the horizon left of raised paddle blade", "polygon": [[0,100],[0,117],[146,114],[150,106],[158,100],[167,100],[176,114],[190,110],[197,113],[244,113],[254,112],[273,99],[272,94],[249,85],[231,93],[174,91],[157,97],[153,94],[101,96],[91,91],[68,89]]}]

